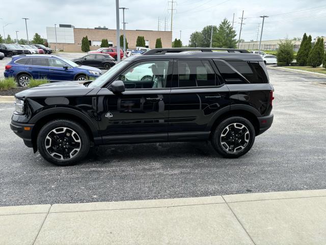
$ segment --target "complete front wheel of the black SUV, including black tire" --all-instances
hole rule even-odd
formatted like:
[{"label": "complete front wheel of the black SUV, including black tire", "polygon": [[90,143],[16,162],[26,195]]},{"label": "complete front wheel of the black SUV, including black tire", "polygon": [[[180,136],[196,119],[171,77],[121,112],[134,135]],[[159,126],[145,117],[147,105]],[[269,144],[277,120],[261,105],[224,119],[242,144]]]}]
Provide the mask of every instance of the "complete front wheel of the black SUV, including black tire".
[{"label": "complete front wheel of the black SUV, including black tire", "polygon": [[[46,146],[48,147],[46,148]],[[56,119],[45,124],[40,130],[37,136],[37,148],[41,156],[48,162],[59,166],[68,166],[76,164],[86,157],[90,150],[90,139],[87,131],[77,122]]]}]

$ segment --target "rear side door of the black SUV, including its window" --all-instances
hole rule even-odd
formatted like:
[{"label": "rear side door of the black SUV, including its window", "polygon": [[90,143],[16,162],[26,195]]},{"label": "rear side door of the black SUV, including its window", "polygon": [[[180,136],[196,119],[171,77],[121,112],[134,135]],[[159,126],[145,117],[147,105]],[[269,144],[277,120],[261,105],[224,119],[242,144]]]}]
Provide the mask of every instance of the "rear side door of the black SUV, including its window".
[{"label": "rear side door of the black SUV, including its window", "polygon": [[169,141],[208,139],[211,118],[230,104],[229,89],[212,60],[175,60],[170,95]]}]

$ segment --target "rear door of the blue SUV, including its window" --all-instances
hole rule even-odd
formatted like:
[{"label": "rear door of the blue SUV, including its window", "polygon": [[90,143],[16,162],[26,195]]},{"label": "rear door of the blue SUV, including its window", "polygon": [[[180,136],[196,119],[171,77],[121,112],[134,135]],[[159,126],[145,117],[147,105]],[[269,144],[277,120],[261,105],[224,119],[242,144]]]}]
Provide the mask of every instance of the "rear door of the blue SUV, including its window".
[{"label": "rear door of the blue SUV, including its window", "polygon": [[25,65],[25,70],[32,74],[34,79],[48,79],[49,67],[46,57],[30,58]]}]

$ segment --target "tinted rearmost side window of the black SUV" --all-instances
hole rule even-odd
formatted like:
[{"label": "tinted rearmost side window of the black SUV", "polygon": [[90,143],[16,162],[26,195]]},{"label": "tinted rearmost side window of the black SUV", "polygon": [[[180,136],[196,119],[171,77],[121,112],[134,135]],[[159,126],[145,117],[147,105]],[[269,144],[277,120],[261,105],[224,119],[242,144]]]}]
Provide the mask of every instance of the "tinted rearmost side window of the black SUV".
[{"label": "tinted rearmost side window of the black SUV", "polygon": [[228,61],[250,83],[268,83],[264,69],[258,62]]}]

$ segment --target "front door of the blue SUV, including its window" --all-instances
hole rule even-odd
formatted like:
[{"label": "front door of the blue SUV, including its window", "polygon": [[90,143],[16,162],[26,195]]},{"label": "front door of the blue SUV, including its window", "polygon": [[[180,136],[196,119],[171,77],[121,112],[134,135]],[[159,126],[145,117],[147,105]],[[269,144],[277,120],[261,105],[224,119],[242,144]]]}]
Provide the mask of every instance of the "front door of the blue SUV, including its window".
[{"label": "front door of the blue SUV, including its window", "polygon": [[48,62],[50,80],[72,81],[74,79],[74,71],[70,65],[56,58],[49,58]]}]

